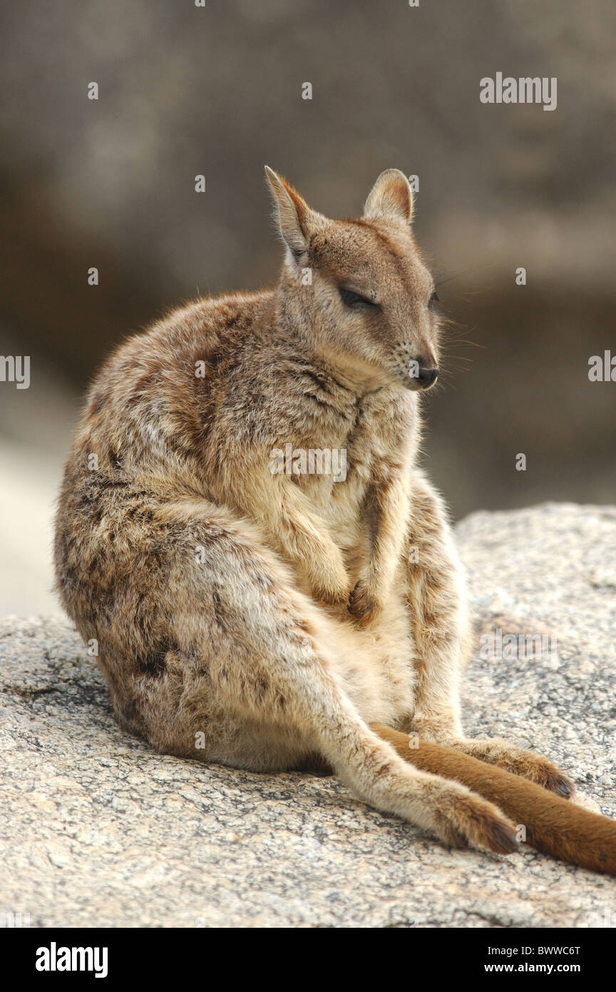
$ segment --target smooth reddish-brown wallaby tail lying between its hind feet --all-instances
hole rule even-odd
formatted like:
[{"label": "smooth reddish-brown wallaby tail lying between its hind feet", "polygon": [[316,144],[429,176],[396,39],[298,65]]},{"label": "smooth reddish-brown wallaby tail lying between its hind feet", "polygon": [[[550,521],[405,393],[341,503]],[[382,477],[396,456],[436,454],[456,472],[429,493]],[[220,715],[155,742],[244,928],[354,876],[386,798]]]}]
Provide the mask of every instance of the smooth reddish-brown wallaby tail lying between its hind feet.
[{"label": "smooth reddish-brown wallaby tail lying between its hind feet", "polygon": [[523,824],[526,840],[538,851],[590,871],[616,875],[616,821],[575,806],[527,779],[471,758],[441,744],[420,740],[379,724],[372,730],[423,772],[461,782],[490,800],[514,823]]}]

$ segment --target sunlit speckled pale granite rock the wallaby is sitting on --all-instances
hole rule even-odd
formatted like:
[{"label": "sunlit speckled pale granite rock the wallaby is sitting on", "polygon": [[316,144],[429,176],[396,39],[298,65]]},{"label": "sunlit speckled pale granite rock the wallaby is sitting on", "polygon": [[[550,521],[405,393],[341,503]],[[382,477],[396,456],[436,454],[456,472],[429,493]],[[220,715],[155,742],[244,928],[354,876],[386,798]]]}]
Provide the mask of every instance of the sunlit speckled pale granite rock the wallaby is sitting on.
[{"label": "sunlit speckled pale granite rock the wallaby is sitting on", "polygon": [[[479,513],[458,539],[479,634],[558,641],[477,652],[467,730],[545,752],[614,815],[616,508]],[[154,755],[68,622],[2,621],[0,682],[0,913],[32,926],[616,926],[613,880],[532,850],[448,851],[333,779]]]}]

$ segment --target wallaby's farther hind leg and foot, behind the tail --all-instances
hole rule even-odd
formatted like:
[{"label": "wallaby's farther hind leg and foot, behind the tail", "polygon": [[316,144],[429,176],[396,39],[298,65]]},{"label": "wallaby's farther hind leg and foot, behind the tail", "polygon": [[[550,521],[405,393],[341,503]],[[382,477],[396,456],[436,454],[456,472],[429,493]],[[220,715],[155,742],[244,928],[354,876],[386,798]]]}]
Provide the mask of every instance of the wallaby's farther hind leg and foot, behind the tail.
[{"label": "wallaby's farther hind leg and foot, behind the tail", "polygon": [[441,500],[425,480],[418,478],[411,506],[406,592],[418,665],[415,713],[404,729],[568,798],[572,783],[547,758],[499,738],[464,737],[459,680],[470,636],[462,570]]}]

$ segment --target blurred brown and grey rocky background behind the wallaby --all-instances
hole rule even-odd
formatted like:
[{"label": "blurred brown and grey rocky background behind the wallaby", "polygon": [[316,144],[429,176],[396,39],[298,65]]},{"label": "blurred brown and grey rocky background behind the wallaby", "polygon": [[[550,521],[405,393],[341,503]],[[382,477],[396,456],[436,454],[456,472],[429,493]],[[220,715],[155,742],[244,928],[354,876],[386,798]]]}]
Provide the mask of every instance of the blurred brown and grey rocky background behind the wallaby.
[{"label": "blurred brown and grey rocky background behind the wallaby", "polygon": [[[616,353],[607,0],[48,0],[3,5],[0,36],[0,352],[32,361],[0,382],[0,612],[57,609],[52,503],[101,357],[275,278],[264,163],[338,216],[386,167],[419,177],[455,321],[426,460],[456,516],[615,501],[616,383],[587,376]],[[497,71],[557,76],[558,108],[480,103]]]}]

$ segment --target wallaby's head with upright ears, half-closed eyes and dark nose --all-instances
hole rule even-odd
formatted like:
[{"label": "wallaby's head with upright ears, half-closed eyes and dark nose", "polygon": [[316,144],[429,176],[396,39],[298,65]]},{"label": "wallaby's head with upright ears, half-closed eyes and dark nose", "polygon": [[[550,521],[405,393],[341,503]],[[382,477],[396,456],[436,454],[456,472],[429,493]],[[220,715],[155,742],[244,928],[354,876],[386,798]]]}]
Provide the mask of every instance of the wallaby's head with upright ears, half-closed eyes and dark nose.
[{"label": "wallaby's head with upright ears, half-closed eyes and dark nose", "polygon": [[411,231],[404,174],[381,173],[353,220],[323,216],[271,169],[265,175],[286,246],[281,313],[359,385],[429,389],[439,374],[438,297]]}]

